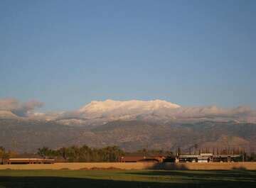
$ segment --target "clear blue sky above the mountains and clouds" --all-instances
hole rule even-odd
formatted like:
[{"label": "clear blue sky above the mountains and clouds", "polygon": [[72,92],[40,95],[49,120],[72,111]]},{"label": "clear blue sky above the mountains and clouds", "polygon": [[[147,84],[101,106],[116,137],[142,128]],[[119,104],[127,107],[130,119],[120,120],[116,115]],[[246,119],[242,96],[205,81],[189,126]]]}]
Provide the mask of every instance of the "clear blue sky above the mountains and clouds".
[{"label": "clear blue sky above the mountains and clouds", "polygon": [[256,109],[256,1],[0,1],[0,98]]}]

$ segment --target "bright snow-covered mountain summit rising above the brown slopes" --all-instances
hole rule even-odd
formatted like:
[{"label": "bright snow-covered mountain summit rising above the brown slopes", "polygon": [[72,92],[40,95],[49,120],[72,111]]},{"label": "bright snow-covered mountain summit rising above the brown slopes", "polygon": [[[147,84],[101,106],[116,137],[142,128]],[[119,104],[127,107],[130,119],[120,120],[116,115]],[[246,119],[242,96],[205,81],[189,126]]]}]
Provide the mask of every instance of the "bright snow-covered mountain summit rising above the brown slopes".
[{"label": "bright snow-covered mountain summit rising above the brown slopes", "polygon": [[[157,113],[158,111],[171,111],[181,108],[164,100],[151,101],[91,101],[90,104],[82,106],[78,111],[70,111],[62,114],[59,119],[69,119],[67,122],[75,122],[74,119],[83,119],[83,123],[102,123],[114,120],[134,120],[140,116]],[[62,121],[63,122],[63,121]]]}]

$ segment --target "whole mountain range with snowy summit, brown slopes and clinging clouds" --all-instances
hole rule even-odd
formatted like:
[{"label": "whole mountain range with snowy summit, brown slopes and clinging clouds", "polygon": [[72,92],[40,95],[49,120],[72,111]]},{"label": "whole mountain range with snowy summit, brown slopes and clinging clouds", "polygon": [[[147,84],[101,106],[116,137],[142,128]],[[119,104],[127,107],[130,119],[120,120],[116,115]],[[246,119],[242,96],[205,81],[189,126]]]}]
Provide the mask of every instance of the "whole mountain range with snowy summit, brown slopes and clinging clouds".
[{"label": "whole mountain range with snowy summit, brown slopes and clinging clouds", "polygon": [[163,100],[92,101],[75,111],[38,113],[38,101],[20,104],[0,100],[0,145],[18,152],[47,146],[189,150],[245,148],[255,150],[256,113],[246,106],[184,107]]}]

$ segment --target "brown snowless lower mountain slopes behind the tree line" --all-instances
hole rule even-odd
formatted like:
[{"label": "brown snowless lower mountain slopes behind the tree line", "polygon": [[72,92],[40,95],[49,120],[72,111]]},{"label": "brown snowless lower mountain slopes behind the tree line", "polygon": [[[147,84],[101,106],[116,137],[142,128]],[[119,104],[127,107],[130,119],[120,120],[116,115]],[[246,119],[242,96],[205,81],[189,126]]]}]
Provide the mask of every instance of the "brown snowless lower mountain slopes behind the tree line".
[{"label": "brown snowless lower mountain slopes behind the tree line", "polygon": [[36,152],[47,146],[104,147],[119,145],[124,150],[183,150],[198,148],[256,149],[256,124],[235,122],[150,123],[113,121],[100,126],[65,126],[56,121],[0,120],[0,145],[18,152]]}]

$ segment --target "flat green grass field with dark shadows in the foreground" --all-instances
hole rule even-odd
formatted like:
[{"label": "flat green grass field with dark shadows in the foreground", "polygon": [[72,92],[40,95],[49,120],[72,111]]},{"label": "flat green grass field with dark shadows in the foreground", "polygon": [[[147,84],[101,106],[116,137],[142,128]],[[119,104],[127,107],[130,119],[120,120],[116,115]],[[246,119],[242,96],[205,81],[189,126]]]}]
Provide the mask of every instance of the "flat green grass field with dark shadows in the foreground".
[{"label": "flat green grass field with dark shadows in the foreground", "polygon": [[0,187],[256,187],[256,171],[0,170]]}]

